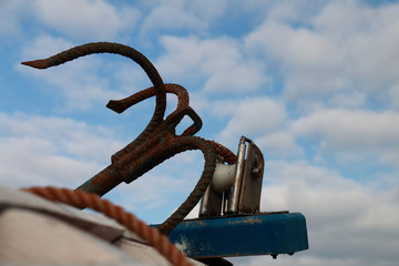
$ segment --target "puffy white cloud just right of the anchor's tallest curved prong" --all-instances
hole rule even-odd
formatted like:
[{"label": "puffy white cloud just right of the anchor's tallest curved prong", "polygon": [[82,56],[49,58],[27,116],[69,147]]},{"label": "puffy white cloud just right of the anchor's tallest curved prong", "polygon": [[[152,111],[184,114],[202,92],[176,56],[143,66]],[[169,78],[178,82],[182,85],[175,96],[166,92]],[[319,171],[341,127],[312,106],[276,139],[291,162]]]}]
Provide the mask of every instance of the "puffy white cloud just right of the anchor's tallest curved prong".
[{"label": "puffy white cloud just right of the anchor's tallest curved prong", "polygon": [[197,85],[209,93],[248,93],[266,86],[268,79],[259,61],[246,58],[241,44],[231,38],[163,37],[165,54],[156,65],[174,82]]}]

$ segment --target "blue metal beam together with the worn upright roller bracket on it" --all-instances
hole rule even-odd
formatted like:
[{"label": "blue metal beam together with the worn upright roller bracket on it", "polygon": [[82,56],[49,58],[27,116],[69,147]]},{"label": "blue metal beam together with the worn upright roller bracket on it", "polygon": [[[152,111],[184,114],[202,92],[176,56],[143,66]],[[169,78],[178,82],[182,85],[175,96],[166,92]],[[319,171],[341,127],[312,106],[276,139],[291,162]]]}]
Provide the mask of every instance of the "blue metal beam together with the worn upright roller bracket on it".
[{"label": "blue metal beam together with the worn upright roller bracket on it", "polygon": [[223,174],[214,175],[214,180],[228,176],[219,178],[228,182],[209,185],[201,202],[200,217],[181,222],[168,235],[170,241],[192,258],[217,262],[213,265],[221,265],[223,257],[277,258],[279,254],[308,249],[304,215],[288,211],[259,212],[264,167],[260,150],[242,136],[235,166],[222,165]]}]

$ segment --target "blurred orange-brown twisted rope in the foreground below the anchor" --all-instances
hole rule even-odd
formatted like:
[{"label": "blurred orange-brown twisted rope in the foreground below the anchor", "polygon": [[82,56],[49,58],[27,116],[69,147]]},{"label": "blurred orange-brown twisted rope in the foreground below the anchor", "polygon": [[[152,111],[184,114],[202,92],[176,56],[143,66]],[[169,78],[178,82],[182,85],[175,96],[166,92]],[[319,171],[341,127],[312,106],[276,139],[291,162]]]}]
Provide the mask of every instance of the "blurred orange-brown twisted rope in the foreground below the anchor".
[{"label": "blurred orange-brown twisted rope in the foreground below the anchor", "polygon": [[112,204],[110,201],[102,200],[96,194],[82,191],[71,191],[57,187],[29,187],[22,191],[35,194],[43,198],[61,202],[79,208],[92,208],[105,216],[117,221],[130,231],[136,233],[145,239],[170,263],[176,266],[191,266],[188,259],[156,228],[147,226],[144,222],[136,218],[133,214],[125,212],[121,206]]}]

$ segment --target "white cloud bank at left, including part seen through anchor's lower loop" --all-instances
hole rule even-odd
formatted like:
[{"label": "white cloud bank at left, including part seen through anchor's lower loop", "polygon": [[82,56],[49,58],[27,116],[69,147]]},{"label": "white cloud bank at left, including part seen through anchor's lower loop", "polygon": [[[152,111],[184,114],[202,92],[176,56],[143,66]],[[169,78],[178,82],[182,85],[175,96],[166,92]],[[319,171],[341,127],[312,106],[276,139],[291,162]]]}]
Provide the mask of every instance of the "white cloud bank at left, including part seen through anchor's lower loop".
[{"label": "white cloud bank at left, including part seen through anchor's lower loop", "polygon": [[[115,139],[116,129],[72,119],[0,113],[0,183],[14,187],[74,188],[108,166],[111,155],[126,144]],[[177,154],[105,197],[149,223],[161,223],[194,188],[203,165],[200,151]],[[197,209],[192,215],[197,216]]]}]

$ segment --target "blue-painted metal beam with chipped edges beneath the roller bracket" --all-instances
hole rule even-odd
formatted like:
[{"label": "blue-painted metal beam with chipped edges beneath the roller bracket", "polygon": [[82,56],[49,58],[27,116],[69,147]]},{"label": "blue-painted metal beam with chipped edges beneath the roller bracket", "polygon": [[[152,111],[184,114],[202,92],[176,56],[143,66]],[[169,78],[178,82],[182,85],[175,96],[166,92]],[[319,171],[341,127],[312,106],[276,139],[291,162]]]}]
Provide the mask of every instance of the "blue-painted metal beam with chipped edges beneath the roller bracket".
[{"label": "blue-painted metal beam with chipped edges beneath the roller bracket", "polygon": [[193,258],[275,256],[309,248],[306,219],[300,213],[188,219],[168,238]]}]

